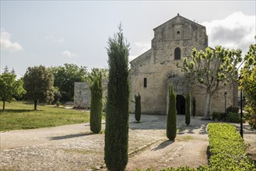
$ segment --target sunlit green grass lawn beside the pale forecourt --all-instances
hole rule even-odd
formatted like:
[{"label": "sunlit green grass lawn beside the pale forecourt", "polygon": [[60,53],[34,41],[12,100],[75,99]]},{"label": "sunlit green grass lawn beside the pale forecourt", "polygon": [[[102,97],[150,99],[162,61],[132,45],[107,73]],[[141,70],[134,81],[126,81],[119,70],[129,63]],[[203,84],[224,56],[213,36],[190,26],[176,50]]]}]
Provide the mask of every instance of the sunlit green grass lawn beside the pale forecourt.
[{"label": "sunlit green grass lawn beside the pale forecourt", "polygon": [[54,127],[89,121],[89,112],[52,105],[37,105],[37,110],[33,110],[33,103],[30,102],[5,103],[4,113],[2,102],[0,107],[0,131]]}]

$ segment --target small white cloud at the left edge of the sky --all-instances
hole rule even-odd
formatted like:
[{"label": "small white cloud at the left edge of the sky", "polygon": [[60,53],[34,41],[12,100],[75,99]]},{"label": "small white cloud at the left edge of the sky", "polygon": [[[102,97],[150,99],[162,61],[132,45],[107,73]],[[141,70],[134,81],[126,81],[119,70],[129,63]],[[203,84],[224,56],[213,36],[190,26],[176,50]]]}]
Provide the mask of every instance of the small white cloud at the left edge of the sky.
[{"label": "small white cloud at the left edge of the sky", "polygon": [[0,44],[1,44],[1,49],[8,50],[8,51],[21,51],[23,50],[23,47],[17,43],[17,42],[12,42],[11,40],[11,34],[8,33],[5,30],[1,30],[1,35],[0,35]]}]

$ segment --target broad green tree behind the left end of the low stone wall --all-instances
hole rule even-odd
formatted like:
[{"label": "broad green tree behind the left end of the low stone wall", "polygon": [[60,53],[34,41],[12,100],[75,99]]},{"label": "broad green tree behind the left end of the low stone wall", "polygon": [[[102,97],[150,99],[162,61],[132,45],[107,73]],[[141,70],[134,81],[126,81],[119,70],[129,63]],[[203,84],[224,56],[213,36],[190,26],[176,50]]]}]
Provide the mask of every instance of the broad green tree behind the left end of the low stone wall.
[{"label": "broad green tree behind the left end of the low stone wall", "polygon": [[58,87],[62,100],[73,100],[75,82],[85,82],[87,77],[86,67],[74,64],[50,68],[54,75],[54,87]]}]

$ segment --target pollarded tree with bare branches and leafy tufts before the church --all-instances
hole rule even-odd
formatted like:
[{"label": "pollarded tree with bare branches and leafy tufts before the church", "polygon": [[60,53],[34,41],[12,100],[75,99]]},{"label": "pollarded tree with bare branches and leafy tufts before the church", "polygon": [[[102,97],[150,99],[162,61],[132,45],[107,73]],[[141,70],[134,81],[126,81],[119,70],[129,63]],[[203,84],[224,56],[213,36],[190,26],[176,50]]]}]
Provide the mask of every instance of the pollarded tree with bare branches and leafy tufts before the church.
[{"label": "pollarded tree with bare branches and leafy tufts before the church", "polygon": [[210,119],[212,95],[224,86],[237,81],[238,68],[240,68],[237,65],[242,62],[241,53],[240,49],[230,51],[216,46],[215,50],[206,47],[205,51],[194,48],[191,58],[184,58],[181,68],[185,76],[191,80],[191,85],[205,89],[205,119]]}]

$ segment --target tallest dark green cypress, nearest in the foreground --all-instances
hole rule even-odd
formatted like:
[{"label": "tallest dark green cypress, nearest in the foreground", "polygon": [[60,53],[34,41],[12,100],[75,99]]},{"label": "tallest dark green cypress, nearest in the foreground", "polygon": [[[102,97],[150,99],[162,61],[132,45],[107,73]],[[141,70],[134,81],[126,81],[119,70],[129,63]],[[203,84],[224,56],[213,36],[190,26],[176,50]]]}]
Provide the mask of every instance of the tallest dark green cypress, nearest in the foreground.
[{"label": "tallest dark green cypress, nearest in the foreground", "polygon": [[104,160],[110,171],[124,170],[128,162],[129,51],[120,25],[119,32],[109,38],[107,47],[109,82]]}]

